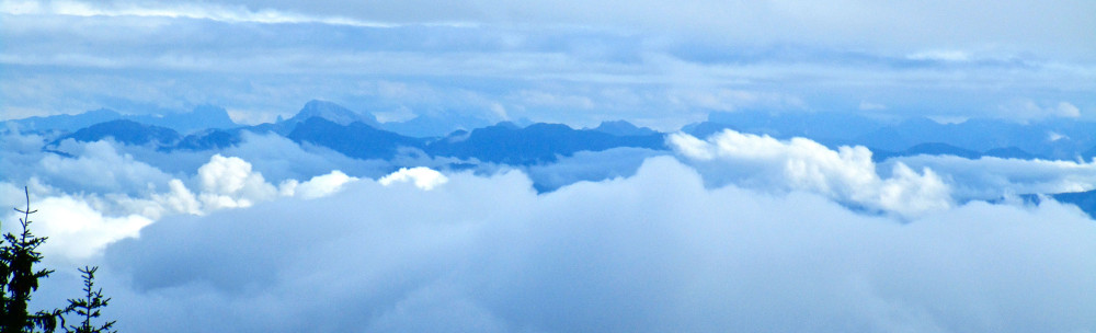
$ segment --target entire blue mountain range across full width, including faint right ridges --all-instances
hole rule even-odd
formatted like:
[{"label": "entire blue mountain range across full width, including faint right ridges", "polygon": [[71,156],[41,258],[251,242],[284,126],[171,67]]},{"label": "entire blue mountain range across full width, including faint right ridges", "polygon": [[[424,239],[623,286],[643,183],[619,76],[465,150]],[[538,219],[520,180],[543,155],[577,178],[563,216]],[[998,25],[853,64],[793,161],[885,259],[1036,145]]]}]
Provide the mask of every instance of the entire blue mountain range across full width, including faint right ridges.
[{"label": "entire blue mountain range across full width, including faint right ridges", "polygon": [[[326,147],[355,159],[391,159],[412,149],[432,157],[452,157],[511,165],[550,163],[580,151],[619,147],[666,150],[664,133],[625,120],[574,129],[561,124],[518,126],[499,123],[445,136],[414,135],[443,128],[439,119],[380,124],[376,117],[324,101],[310,101],[293,117],[240,126],[216,106],[165,116],[122,115],[95,110],[79,115],[31,117],[0,124],[52,138],[45,149],[66,139],[98,141],[113,138],[123,145],[150,146],[163,151],[216,150],[239,145],[244,131],[275,134],[301,145]],[[413,124],[434,126],[415,130]],[[392,130],[402,128],[402,130]],[[940,124],[925,118],[884,122],[848,114],[713,113],[708,120],[681,130],[707,137],[723,129],[768,135],[778,139],[806,137],[830,147],[859,145],[874,159],[917,154],[1015,159],[1092,160],[1096,157],[1096,123],[1051,119],[1031,124],[972,119]],[[1054,194],[1096,215],[1096,192]]]}]

